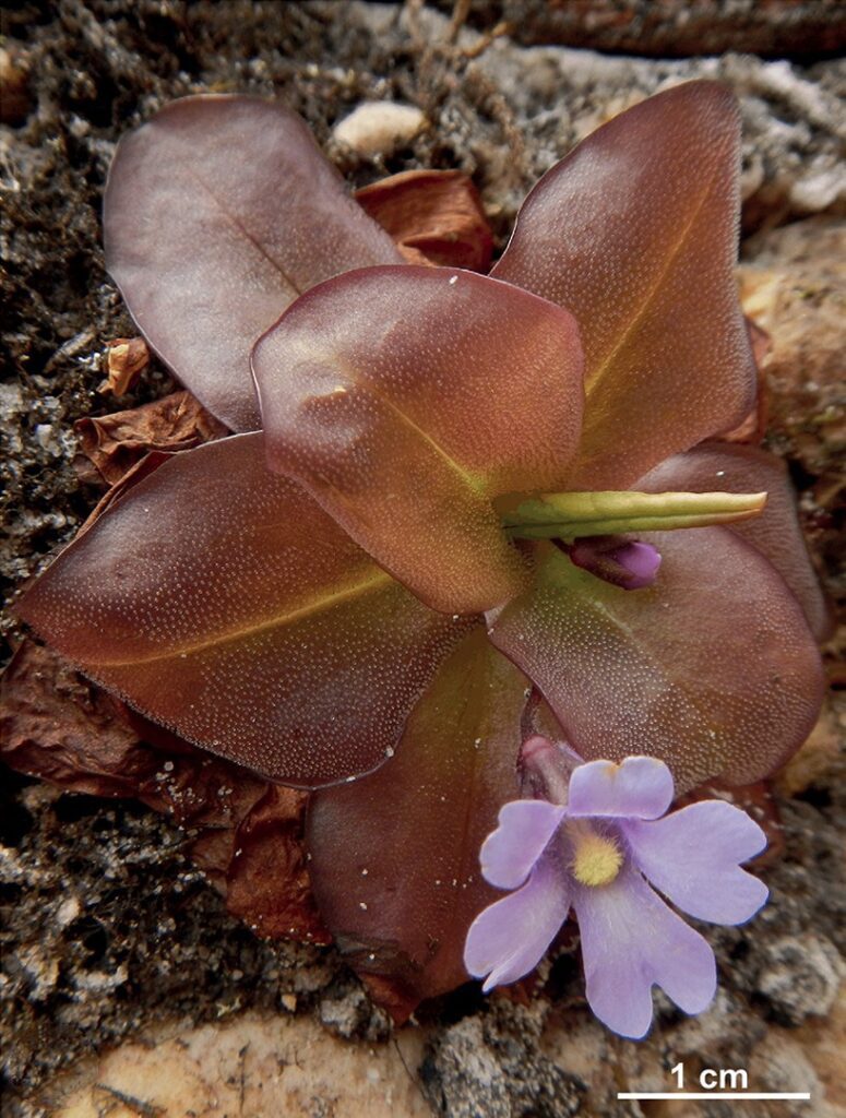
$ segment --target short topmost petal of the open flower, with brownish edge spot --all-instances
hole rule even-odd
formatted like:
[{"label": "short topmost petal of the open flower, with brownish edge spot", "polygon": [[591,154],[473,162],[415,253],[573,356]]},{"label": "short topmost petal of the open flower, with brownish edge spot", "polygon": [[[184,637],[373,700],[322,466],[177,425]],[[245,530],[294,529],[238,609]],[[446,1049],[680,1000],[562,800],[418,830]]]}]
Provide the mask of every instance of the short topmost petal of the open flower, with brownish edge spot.
[{"label": "short topmost petal of the open flower, with brownish edge spot", "polygon": [[657,819],[673,803],[673,775],[656,757],[580,765],[570,778],[568,815]]}]

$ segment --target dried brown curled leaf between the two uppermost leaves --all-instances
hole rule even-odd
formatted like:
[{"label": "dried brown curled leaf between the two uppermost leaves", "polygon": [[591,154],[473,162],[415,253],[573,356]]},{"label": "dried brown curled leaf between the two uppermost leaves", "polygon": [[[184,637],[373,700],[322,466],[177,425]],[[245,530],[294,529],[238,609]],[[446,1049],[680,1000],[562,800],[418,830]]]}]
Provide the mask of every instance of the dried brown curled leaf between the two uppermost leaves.
[{"label": "dried brown curled leaf between the two uppermost leaves", "polygon": [[409,264],[487,272],[493,238],[473,182],[460,171],[402,171],[357,191],[355,200]]}]

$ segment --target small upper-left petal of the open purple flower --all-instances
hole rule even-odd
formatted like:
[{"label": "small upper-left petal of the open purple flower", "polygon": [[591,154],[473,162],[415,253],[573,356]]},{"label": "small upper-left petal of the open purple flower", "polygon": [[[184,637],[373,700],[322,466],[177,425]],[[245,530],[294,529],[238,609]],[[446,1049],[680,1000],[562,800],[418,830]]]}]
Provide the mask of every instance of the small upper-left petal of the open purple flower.
[{"label": "small upper-left petal of the open purple flower", "polygon": [[522,885],[564,817],[545,799],[514,799],[500,811],[500,825],[482,845],[482,874],[500,889]]}]

